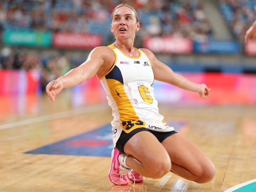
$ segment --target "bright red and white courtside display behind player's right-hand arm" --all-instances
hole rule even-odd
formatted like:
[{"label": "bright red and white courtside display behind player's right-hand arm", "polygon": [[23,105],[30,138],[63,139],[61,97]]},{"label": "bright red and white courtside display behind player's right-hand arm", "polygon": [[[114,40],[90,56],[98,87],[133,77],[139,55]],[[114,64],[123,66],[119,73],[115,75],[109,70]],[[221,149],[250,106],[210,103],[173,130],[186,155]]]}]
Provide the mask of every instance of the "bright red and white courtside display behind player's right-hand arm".
[{"label": "bright red and white courtside display behind player's right-hand arm", "polygon": [[154,81],[158,103],[175,104],[256,104],[256,75],[233,73],[181,73],[192,82],[205,83],[211,95],[205,99],[198,93]]}]

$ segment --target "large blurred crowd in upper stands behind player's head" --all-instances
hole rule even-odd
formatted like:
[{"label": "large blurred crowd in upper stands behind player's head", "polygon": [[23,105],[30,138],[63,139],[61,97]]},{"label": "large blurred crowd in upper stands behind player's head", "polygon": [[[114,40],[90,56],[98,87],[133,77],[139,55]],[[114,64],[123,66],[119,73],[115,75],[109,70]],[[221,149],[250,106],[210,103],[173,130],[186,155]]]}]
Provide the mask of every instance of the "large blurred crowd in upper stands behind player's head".
[{"label": "large blurred crowd in upper stands behind player's head", "polygon": [[147,35],[201,41],[212,34],[200,0],[2,0],[0,28],[101,34],[108,43],[113,41],[111,12],[123,2],[138,12],[138,41]]}]

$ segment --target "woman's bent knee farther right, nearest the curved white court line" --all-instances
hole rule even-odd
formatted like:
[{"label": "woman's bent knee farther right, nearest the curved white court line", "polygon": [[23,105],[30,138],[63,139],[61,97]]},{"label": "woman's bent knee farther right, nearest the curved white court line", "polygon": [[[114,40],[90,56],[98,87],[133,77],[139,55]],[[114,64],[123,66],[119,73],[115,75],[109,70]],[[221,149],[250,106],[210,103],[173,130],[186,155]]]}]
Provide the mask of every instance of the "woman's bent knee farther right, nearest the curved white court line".
[{"label": "woman's bent knee farther right, nearest the curved white court line", "polygon": [[215,175],[215,167],[213,164],[204,166],[200,174],[197,175],[196,183],[207,183],[213,179]]}]

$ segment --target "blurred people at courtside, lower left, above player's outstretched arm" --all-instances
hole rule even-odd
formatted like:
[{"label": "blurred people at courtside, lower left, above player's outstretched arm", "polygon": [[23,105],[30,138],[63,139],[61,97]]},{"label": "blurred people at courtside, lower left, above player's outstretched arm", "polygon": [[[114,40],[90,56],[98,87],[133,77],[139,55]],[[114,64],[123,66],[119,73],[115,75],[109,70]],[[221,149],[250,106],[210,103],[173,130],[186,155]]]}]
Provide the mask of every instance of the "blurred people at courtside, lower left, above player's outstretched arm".
[{"label": "blurred people at courtside, lower left, above player's outstretched arm", "polygon": [[62,52],[45,56],[37,51],[28,51],[25,48],[12,50],[10,47],[4,47],[0,52],[0,69],[39,70],[43,89],[48,82],[65,75],[83,61],[81,58],[69,58]]}]

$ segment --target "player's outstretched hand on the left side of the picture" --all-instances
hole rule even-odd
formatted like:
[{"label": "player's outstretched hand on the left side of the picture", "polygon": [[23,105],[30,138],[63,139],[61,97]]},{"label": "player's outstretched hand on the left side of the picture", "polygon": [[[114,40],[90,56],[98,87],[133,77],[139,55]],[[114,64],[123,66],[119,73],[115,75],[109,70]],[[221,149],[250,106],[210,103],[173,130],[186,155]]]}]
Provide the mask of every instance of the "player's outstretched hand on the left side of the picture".
[{"label": "player's outstretched hand on the left side of the picture", "polygon": [[50,97],[50,100],[52,102],[55,102],[55,96],[60,93],[60,91],[63,89],[63,82],[60,78],[56,80],[52,80],[47,84],[46,86],[46,93]]}]

